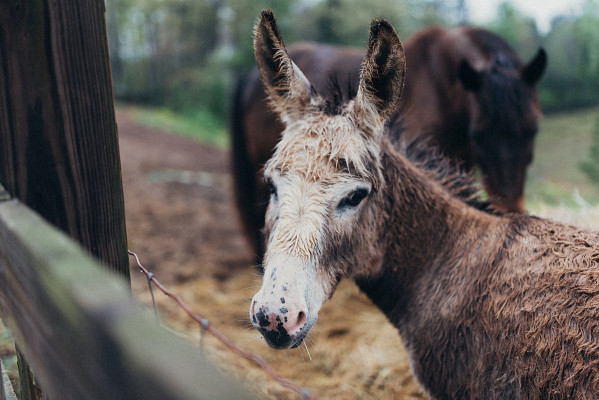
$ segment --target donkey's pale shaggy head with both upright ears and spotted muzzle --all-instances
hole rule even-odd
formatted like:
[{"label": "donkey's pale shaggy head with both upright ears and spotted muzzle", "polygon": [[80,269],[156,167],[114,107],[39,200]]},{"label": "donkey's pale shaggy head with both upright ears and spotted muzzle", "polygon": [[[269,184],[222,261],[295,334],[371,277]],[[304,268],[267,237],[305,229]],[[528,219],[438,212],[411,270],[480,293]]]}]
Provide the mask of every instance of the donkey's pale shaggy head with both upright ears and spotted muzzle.
[{"label": "donkey's pale shaggy head with both upright ears and spotted muzzle", "polygon": [[393,28],[373,21],[356,98],[332,104],[289,58],[270,11],[256,27],[254,50],[286,129],[265,167],[267,251],[250,318],[270,346],[284,349],[302,343],[341,278],[379,266],[380,145],[405,58]]}]

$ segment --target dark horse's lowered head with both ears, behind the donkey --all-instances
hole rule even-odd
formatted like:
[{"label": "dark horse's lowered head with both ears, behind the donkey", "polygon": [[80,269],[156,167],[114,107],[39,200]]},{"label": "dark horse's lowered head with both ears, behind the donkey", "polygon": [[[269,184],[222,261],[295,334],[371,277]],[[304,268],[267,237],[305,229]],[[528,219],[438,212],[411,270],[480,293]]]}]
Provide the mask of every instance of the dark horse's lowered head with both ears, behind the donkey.
[{"label": "dark horse's lowered head with both ears, behind the donkey", "polygon": [[540,49],[525,66],[515,55],[498,54],[482,70],[466,60],[459,67],[459,79],[471,92],[474,162],[489,195],[506,211],[524,211],[524,179],[540,115],[535,84],[546,63],[547,55]]}]

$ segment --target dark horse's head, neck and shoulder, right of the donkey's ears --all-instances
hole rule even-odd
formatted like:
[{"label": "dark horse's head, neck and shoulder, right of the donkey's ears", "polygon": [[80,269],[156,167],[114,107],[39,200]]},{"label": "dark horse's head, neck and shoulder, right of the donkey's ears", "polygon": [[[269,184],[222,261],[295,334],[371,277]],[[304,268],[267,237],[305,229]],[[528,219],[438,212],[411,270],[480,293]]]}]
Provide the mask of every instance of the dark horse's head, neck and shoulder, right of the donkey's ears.
[{"label": "dark horse's head, neck and shoulder, right of the donkey's ears", "polygon": [[480,28],[430,28],[406,43],[408,79],[399,114],[408,139],[430,135],[464,167],[480,167],[497,207],[524,211],[524,179],[540,115],[535,84],[543,49],[527,65]]}]

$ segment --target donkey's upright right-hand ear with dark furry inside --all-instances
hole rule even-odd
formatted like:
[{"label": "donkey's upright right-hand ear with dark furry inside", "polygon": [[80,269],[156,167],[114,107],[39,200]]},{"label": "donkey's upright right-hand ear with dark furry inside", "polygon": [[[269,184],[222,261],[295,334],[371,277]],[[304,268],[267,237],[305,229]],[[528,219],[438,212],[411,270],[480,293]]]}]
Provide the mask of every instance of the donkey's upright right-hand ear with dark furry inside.
[{"label": "donkey's upright right-hand ear with dark furry inside", "polygon": [[382,127],[399,103],[406,75],[406,57],[393,27],[383,19],[370,25],[356,106],[373,127]]}]

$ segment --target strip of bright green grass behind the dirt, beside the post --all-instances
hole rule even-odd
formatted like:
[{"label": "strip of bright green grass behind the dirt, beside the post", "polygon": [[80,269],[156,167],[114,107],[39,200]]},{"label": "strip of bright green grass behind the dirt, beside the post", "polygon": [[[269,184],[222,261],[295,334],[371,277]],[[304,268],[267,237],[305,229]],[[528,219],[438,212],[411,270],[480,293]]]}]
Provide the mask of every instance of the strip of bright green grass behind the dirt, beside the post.
[{"label": "strip of bright green grass behind the dirt, beside the post", "polygon": [[121,107],[131,110],[134,121],[140,125],[161,129],[220,149],[229,146],[225,123],[210,112],[197,110],[177,113],[162,107]]}]

